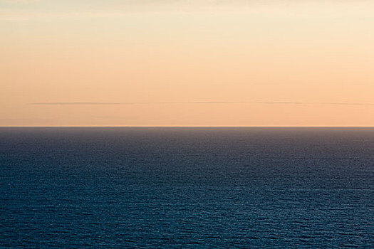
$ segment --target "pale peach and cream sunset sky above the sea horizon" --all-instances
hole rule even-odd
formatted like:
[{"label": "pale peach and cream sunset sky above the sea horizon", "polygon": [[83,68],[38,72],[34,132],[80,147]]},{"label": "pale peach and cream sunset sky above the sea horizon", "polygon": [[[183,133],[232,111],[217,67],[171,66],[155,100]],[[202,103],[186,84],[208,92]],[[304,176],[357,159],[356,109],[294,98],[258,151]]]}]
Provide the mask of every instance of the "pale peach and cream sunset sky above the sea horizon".
[{"label": "pale peach and cream sunset sky above the sea horizon", "polygon": [[374,126],[374,1],[0,0],[0,126]]}]

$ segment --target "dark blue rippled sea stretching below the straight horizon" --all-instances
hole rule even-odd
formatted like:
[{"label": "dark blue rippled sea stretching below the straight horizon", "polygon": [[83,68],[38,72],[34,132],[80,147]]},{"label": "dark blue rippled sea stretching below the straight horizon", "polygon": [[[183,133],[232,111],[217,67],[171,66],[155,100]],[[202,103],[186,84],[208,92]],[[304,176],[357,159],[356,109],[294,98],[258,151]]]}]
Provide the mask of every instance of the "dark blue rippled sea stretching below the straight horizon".
[{"label": "dark blue rippled sea stretching below the straight horizon", "polygon": [[374,248],[374,128],[0,128],[0,248]]}]

